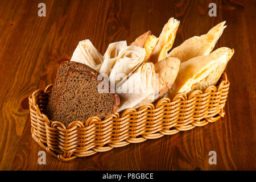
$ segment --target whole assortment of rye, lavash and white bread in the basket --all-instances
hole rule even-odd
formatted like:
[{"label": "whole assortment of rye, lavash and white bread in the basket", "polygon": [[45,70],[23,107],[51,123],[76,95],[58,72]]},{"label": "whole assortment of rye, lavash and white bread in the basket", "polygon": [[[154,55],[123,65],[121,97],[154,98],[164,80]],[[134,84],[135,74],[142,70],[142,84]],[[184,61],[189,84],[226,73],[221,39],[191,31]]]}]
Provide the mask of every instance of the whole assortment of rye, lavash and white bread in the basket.
[{"label": "whole assortment of rye, lavash and white bread in the basket", "polygon": [[79,42],[58,69],[48,117],[68,125],[215,85],[234,53],[226,47],[212,52],[225,22],[171,50],[179,24],[170,18],[158,38],[147,31],[129,46],[110,43],[104,56],[90,40]]}]

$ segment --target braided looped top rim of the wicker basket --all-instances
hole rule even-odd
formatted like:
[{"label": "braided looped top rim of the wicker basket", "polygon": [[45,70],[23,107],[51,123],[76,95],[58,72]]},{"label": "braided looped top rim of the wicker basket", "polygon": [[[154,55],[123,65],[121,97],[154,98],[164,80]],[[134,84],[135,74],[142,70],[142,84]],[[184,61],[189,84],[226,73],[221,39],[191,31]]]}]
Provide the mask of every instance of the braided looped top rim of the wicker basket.
[{"label": "braided looped top rim of the wicker basket", "polygon": [[[221,81],[220,81],[221,80]],[[60,127],[60,129],[64,129],[64,130],[72,130],[74,127],[77,127],[77,124],[79,124],[80,127],[87,127],[92,125],[92,122],[108,122],[110,119],[113,118],[120,118],[123,117],[124,115],[128,116],[127,114],[130,112],[135,112],[134,115],[136,114],[142,114],[144,110],[150,108],[150,109],[154,109],[155,107],[158,107],[160,104],[162,104],[163,102],[170,102],[170,105],[175,105],[176,102],[180,102],[180,101],[187,101],[187,102],[193,102],[196,98],[196,96],[203,96],[204,94],[209,94],[210,92],[220,92],[222,89],[222,85],[228,84],[230,85],[229,81],[228,81],[228,76],[225,72],[222,73],[222,76],[220,77],[220,79],[218,80],[218,83],[216,85],[210,85],[208,86],[204,92],[202,90],[192,90],[191,92],[185,94],[185,93],[177,93],[172,100],[168,97],[163,97],[160,98],[158,101],[155,102],[151,102],[149,104],[145,104],[141,107],[138,107],[137,109],[135,108],[128,108],[125,109],[121,112],[117,112],[111,115],[106,116],[104,119],[100,119],[96,116],[92,116],[89,117],[86,121],[72,121],[71,123],[69,123],[68,126],[65,126],[62,122],[60,121],[51,121],[46,114],[43,114],[40,111],[40,108],[38,106],[38,104],[36,104],[36,100],[35,97],[37,94],[39,93],[49,93],[51,92],[52,86],[53,84],[49,84],[46,86],[46,88],[43,89],[37,89],[35,90],[29,97],[28,100],[31,102],[31,107],[35,106],[36,108],[36,112],[38,113],[38,115],[42,115],[42,117],[44,118],[44,121],[46,121],[46,125],[49,127],[54,127],[55,125]],[[161,107],[158,107],[158,109],[160,110]]]}]

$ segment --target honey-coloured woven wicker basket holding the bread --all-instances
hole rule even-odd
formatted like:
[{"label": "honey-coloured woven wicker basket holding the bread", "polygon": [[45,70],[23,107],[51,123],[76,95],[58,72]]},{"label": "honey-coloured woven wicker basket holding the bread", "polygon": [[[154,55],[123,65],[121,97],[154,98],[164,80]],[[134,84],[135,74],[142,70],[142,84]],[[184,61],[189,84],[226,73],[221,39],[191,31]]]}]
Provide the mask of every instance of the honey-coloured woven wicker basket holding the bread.
[{"label": "honey-coloured woven wicker basket holding the bread", "polygon": [[49,154],[68,161],[215,122],[224,117],[229,81],[223,73],[217,85],[204,92],[179,93],[172,101],[165,97],[155,104],[109,115],[103,121],[90,117],[84,122],[73,121],[68,127],[43,114],[52,86],[38,89],[29,97],[31,133]]}]

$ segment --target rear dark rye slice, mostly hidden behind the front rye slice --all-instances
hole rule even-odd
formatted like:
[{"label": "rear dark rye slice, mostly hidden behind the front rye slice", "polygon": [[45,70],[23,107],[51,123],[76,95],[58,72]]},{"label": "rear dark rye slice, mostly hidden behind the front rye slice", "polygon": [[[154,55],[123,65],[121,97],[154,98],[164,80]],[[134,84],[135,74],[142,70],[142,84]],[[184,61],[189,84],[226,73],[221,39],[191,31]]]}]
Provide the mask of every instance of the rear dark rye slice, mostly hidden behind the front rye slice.
[{"label": "rear dark rye slice, mostly hidden behind the front rye slice", "polygon": [[63,63],[61,63],[59,69],[57,70],[55,83],[52,87],[52,91],[47,104],[46,114],[49,119],[53,118],[53,114],[56,111],[56,104],[58,102],[58,98],[63,92],[63,84],[65,84],[65,81],[67,80],[68,70],[71,68],[88,70],[97,73],[94,69],[82,63],[77,63],[74,61],[64,61]]}]

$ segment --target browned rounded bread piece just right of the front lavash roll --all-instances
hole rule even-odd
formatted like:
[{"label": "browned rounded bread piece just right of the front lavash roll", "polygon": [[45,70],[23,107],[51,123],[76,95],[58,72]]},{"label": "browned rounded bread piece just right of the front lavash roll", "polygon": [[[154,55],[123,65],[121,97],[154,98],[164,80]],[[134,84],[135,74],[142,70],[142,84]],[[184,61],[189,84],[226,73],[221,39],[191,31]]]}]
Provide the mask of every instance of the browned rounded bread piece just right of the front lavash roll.
[{"label": "browned rounded bread piece just right of the front lavash roll", "polygon": [[167,57],[155,64],[155,73],[158,74],[158,92],[155,100],[164,96],[174,84],[180,68],[180,60],[177,57]]}]

